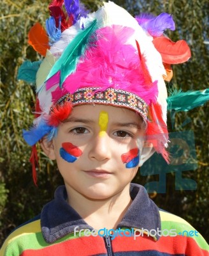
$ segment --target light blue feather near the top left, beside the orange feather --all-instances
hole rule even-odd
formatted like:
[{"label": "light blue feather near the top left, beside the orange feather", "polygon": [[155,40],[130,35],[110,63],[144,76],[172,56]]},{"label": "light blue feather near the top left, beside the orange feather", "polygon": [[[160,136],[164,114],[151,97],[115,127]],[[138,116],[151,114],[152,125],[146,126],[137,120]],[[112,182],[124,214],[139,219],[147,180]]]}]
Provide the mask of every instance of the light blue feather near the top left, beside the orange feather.
[{"label": "light blue feather near the top left, beside the orange feather", "polygon": [[50,44],[54,44],[61,38],[61,17],[59,18],[59,27],[56,27],[54,17],[46,20],[47,34],[50,37]]}]

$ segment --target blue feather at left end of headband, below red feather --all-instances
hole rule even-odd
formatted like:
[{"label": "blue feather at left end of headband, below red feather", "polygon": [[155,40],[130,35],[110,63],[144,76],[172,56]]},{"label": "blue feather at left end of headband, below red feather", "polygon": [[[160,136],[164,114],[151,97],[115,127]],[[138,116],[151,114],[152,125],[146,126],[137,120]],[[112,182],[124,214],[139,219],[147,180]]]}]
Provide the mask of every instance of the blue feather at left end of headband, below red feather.
[{"label": "blue feather at left end of headband, below red feather", "polygon": [[30,131],[23,130],[23,138],[30,146],[35,145],[43,136],[47,135],[49,132],[54,129],[53,126],[46,124],[44,121],[36,127],[31,127]]}]

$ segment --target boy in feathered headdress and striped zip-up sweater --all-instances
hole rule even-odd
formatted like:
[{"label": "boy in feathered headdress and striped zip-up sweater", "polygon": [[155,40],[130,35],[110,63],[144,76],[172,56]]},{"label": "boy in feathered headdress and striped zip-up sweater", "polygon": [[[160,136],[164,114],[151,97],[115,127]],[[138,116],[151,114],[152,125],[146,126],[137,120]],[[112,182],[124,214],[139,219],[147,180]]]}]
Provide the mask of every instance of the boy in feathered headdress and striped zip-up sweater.
[{"label": "boy in feathered headdress and striped zip-up sweater", "polygon": [[[65,186],[40,216],[10,234],[0,255],[208,255],[189,223],[158,209],[142,186],[131,184],[154,150],[168,161],[166,72],[152,41],[174,29],[173,19],[162,13],[136,20],[111,2],[89,15],[76,2],[65,5],[73,26],[62,1],[52,1],[50,42],[43,44],[48,37],[40,25],[29,33],[45,59],[36,74],[37,117],[24,131],[34,182],[40,141]],[[31,33],[42,35],[40,45]],[[184,231],[190,237],[181,236]]]}]

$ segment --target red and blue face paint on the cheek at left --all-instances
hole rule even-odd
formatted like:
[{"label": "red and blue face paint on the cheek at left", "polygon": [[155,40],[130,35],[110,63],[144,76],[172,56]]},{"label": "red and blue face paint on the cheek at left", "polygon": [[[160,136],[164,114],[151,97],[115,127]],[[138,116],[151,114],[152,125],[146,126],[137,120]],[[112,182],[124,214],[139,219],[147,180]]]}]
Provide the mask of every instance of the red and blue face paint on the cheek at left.
[{"label": "red and blue face paint on the cheek at left", "polygon": [[59,154],[68,163],[74,163],[77,157],[82,155],[82,150],[70,142],[64,142],[59,150]]}]

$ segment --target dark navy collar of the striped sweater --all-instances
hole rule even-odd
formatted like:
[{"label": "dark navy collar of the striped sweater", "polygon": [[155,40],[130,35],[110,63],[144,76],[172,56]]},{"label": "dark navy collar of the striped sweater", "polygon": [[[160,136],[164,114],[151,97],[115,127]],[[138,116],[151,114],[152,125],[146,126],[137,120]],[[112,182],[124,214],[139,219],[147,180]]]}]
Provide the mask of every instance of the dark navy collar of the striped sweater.
[{"label": "dark navy collar of the striped sweater", "polygon": [[[117,228],[143,228],[143,230],[157,230],[158,228],[161,230],[159,209],[148,197],[146,189],[141,185],[131,184],[130,195],[133,202]],[[46,204],[41,211],[43,237],[47,243],[54,243],[61,237],[73,233],[76,226],[93,229],[68,204],[66,188],[60,186],[55,191],[54,200]],[[155,236],[154,239],[159,239],[159,236]]]}]

